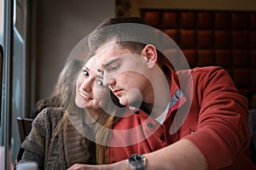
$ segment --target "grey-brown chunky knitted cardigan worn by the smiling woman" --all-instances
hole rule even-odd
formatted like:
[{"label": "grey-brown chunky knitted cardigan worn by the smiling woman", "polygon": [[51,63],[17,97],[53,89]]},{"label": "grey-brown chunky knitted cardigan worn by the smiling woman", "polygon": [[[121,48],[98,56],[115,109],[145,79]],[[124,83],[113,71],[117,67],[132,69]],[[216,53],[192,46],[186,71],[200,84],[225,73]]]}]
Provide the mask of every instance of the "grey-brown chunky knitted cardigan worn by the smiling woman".
[{"label": "grey-brown chunky knitted cardigan worn by the smiling woman", "polygon": [[63,108],[46,108],[38,114],[31,133],[21,144],[25,151],[19,162],[35,161],[39,169],[67,169],[74,163],[96,164],[95,144],[85,139],[69,120],[67,132],[64,133],[62,125],[53,140],[63,113]]}]

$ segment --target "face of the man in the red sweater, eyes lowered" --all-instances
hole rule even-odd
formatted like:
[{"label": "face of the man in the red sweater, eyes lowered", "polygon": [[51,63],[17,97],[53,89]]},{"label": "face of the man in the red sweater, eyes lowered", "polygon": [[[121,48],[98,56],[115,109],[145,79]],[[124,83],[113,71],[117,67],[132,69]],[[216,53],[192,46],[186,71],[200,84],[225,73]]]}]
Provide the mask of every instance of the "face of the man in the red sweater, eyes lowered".
[{"label": "face of the man in the red sweater, eyes lowered", "polygon": [[151,86],[145,57],[111,43],[99,48],[95,59],[103,84],[113,91],[121,105],[141,103],[147,98],[146,92]]}]

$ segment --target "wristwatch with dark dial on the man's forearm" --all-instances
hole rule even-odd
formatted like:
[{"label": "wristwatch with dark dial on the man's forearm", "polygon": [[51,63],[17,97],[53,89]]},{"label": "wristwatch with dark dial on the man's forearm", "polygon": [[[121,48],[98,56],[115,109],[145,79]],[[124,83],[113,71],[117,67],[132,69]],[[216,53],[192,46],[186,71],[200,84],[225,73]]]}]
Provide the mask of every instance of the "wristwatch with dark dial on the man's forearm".
[{"label": "wristwatch with dark dial on the man's forearm", "polygon": [[129,166],[134,170],[144,170],[146,158],[143,155],[133,154],[128,159]]}]

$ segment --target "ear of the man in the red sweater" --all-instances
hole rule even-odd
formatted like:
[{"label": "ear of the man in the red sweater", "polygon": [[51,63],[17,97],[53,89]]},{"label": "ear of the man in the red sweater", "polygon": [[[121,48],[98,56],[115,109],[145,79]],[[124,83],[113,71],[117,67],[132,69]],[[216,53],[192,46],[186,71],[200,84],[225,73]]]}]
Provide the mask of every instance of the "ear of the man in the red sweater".
[{"label": "ear of the man in the red sweater", "polygon": [[157,62],[156,48],[152,44],[147,44],[142,51],[142,55],[147,59],[148,68],[152,68]]}]

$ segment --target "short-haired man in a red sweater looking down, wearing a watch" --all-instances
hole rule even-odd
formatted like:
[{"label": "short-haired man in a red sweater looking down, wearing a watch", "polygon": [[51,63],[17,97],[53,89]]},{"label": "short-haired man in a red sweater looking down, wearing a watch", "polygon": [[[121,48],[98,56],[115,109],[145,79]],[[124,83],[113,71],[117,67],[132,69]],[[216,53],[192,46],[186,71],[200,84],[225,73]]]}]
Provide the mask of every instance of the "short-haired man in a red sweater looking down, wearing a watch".
[{"label": "short-haired man in a red sweater looking down, wearing a watch", "polygon": [[115,163],[98,168],[255,169],[247,99],[220,67],[175,71],[168,59],[181,55],[166,59],[157,33],[131,17],[105,20],[90,34],[103,84],[130,108],[108,138],[108,163]]}]

